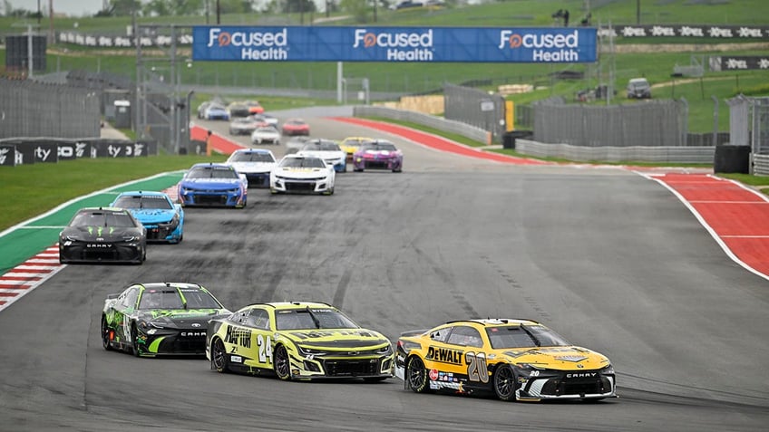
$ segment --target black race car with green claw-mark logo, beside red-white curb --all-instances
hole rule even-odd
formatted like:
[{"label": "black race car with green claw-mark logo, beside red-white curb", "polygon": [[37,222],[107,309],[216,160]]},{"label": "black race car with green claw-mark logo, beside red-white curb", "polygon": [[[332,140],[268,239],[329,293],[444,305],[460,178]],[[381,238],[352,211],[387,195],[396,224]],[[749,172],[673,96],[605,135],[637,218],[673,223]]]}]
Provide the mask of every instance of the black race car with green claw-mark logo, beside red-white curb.
[{"label": "black race car with green claw-mark logo, beside red-white curb", "polygon": [[59,263],[131,263],[147,259],[147,228],[125,208],[85,207],[59,233]]}]

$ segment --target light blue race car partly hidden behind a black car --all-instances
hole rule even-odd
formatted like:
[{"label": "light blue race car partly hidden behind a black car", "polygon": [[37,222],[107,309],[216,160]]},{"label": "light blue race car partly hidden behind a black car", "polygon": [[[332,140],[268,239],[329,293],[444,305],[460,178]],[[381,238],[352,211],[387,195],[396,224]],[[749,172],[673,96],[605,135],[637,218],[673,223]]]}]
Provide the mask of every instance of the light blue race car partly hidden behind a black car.
[{"label": "light blue race car partly hidden behind a black car", "polygon": [[110,206],[130,211],[147,228],[148,242],[179,243],[184,238],[184,210],[168,194],[142,190],[122,192]]}]

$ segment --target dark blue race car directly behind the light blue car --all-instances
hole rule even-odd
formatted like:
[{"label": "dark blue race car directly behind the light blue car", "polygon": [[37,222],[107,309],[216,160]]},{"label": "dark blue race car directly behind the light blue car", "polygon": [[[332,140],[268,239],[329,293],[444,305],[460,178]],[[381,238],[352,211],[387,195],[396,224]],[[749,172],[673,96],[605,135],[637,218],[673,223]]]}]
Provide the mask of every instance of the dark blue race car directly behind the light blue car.
[{"label": "dark blue race car directly behind the light blue car", "polygon": [[181,206],[227,206],[247,204],[248,179],[227,164],[198,163],[177,185]]}]

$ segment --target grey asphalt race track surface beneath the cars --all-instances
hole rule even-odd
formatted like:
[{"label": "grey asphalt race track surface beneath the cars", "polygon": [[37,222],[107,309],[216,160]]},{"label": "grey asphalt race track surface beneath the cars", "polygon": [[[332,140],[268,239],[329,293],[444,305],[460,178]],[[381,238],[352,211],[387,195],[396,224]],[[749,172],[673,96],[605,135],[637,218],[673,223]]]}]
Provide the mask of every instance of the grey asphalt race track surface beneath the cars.
[{"label": "grey asphalt race track surface beneath the cars", "polygon": [[[372,135],[305,117],[314,137]],[[0,430],[766,428],[769,283],[667,189],[619,168],[516,167],[389,138],[403,173],[350,169],[331,197],[250,189],[243,210],[187,209],[184,241],[151,245],[144,265],[69,265],[5,309]],[[103,350],[106,295],[151,281],[202,283],[231,310],[331,302],[393,340],[529,318],[608,355],[620,398],[417,395],[399,379],[281,382]]]}]

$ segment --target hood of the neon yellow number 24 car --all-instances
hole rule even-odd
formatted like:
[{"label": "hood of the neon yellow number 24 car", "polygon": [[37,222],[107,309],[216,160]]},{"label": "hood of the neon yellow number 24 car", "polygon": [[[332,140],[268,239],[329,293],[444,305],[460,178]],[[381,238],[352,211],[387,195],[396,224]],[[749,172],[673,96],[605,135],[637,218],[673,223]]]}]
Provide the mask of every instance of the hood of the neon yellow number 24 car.
[{"label": "hood of the neon yellow number 24 car", "polygon": [[323,329],[279,331],[282,336],[307,348],[350,350],[389,344],[381,333],[366,329]]}]

